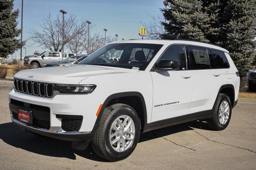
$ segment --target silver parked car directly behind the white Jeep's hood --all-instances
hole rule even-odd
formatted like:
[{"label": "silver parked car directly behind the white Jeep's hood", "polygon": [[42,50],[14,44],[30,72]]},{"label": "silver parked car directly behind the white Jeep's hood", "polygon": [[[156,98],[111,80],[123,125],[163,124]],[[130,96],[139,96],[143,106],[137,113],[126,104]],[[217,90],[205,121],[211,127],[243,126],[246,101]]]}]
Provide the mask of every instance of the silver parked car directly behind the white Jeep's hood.
[{"label": "silver parked car directly behind the white Jeep's hood", "polygon": [[68,57],[67,59],[64,59],[60,62],[52,62],[52,63],[48,63],[46,64],[47,67],[50,66],[69,66],[72,64],[77,64],[80,61],[82,61],[83,59],[85,59],[88,55],[75,55],[72,57]]}]

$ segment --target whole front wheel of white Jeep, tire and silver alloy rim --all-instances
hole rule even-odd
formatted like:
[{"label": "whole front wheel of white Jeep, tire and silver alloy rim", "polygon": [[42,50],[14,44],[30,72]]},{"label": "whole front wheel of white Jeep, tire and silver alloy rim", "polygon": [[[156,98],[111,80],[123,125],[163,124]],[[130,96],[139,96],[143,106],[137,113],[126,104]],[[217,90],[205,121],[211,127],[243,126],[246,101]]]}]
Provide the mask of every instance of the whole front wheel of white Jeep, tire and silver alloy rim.
[{"label": "whole front wheel of white Jeep, tire and silver alloy rim", "polygon": [[118,161],[132,154],[140,137],[140,119],[126,104],[114,104],[103,112],[92,138],[94,152],[110,161]]}]

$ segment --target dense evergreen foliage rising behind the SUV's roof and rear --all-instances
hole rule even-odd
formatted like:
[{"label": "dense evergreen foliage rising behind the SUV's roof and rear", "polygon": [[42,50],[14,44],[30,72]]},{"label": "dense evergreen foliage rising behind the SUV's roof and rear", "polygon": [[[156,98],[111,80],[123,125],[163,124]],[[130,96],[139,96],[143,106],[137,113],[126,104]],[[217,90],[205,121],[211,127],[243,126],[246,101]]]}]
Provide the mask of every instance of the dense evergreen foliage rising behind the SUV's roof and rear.
[{"label": "dense evergreen foliage rising behind the SUV's roof and rear", "polygon": [[256,55],[256,0],[168,0],[163,39],[210,42],[230,51],[240,74]]}]

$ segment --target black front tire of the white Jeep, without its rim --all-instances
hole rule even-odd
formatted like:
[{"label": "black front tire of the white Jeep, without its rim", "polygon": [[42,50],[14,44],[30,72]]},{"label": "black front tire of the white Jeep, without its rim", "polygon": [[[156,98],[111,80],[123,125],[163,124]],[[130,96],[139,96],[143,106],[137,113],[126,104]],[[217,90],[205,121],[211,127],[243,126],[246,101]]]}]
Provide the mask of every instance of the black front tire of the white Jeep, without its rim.
[{"label": "black front tire of the white Jeep, without its rim", "polygon": [[[135,136],[134,141],[130,147],[123,152],[116,152],[110,145],[109,134],[112,123],[121,115],[128,115],[134,121]],[[113,104],[105,108],[100,119],[99,126],[92,138],[92,148],[94,152],[110,161],[118,161],[127,158],[132,154],[138,140],[140,138],[140,119],[136,111],[126,104]]]}]

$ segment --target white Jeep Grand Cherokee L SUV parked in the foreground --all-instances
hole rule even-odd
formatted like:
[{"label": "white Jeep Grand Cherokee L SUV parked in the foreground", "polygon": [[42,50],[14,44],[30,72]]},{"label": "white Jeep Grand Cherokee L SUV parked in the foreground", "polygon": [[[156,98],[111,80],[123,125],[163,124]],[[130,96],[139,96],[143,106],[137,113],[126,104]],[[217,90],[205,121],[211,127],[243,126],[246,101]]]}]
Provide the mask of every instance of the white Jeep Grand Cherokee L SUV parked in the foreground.
[{"label": "white Jeep Grand Cherokee L SUV parked in the foreground", "polygon": [[129,40],[110,43],[78,65],[18,72],[9,106],[21,129],[72,141],[74,149],[91,143],[98,156],[117,161],[132,153],[140,133],[198,119],[225,129],[239,85],[226,49]]}]

